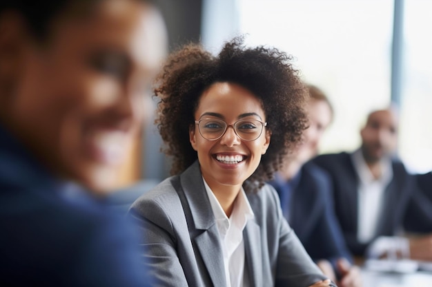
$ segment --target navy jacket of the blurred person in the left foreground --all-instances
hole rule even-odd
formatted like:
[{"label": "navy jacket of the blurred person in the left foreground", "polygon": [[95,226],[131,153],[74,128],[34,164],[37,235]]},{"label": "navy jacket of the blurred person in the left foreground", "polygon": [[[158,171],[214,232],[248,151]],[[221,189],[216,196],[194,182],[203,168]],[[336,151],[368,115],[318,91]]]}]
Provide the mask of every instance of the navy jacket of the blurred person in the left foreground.
[{"label": "navy jacket of the blurred person in the left foreground", "polygon": [[135,235],[0,127],[0,286],[151,286]]}]

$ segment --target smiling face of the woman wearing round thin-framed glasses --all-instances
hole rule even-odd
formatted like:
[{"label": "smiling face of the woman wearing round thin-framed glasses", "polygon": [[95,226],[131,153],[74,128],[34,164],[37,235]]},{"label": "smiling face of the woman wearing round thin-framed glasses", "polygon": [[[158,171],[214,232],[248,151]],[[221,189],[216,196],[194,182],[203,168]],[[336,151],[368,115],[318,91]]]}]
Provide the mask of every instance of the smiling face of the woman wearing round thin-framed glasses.
[{"label": "smiling face of the woman wearing round thin-framed glasses", "polygon": [[[259,99],[234,83],[215,83],[202,94],[195,120],[202,118],[224,120],[228,125],[240,119],[266,121]],[[189,134],[190,143],[198,153],[202,175],[211,189],[241,186],[257,169],[270,143],[270,133],[265,127],[260,136],[251,141],[239,138],[232,126],[217,140],[203,138],[198,125],[191,128]]]}]

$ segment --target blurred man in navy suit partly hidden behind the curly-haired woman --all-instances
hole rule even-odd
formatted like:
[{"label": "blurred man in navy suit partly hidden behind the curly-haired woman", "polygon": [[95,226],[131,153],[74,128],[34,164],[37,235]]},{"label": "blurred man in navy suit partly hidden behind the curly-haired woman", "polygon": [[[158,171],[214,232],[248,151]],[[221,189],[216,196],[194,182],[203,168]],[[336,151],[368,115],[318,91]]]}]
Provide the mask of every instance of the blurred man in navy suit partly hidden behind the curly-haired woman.
[{"label": "blurred man in navy suit partly hidden behind the curly-haired woman", "polygon": [[321,89],[308,85],[308,91],[308,128],[303,140],[269,183],[281,199],[284,217],[324,274],[338,286],[361,286],[360,270],[351,266],[351,253],[335,216],[331,180],[308,162],[317,155],[322,134],[333,119],[333,107]]}]

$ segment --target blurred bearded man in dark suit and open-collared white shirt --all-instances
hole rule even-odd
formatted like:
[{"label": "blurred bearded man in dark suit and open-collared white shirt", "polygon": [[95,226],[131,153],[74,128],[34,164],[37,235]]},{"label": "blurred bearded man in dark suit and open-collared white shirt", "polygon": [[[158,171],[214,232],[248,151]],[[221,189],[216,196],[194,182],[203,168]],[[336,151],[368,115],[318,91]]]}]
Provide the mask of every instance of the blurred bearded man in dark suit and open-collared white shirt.
[{"label": "blurred bearded man in dark suit and open-collared white shirt", "polygon": [[414,177],[395,157],[397,127],[395,107],[371,111],[360,131],[359,149],[318,156],[313,162],[331,175],[336,215],[354,255],[432,258],[431,237],[422,238],[426,248],[419,253],[418,243],[397,236],[403,234],[409,203],[418,198]]}]

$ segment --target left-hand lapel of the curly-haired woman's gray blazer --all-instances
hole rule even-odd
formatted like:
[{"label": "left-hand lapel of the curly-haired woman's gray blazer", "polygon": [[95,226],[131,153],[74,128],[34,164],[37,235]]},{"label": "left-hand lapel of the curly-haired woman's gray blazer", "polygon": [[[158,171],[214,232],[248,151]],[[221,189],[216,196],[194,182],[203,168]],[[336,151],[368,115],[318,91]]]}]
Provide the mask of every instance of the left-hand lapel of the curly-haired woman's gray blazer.
[{"label": "left-hand lapel of the curly-haired woman's gray blazer", "polygon": [[[196,161],[184,171],[180,180],[195,225],[189,226],[191,238],[199,250],[213,286],[226,286],[219,231],[217,231],[215,216],[206,194],[199,163]],[[191,231],[192,229],[194,230]]]}]

